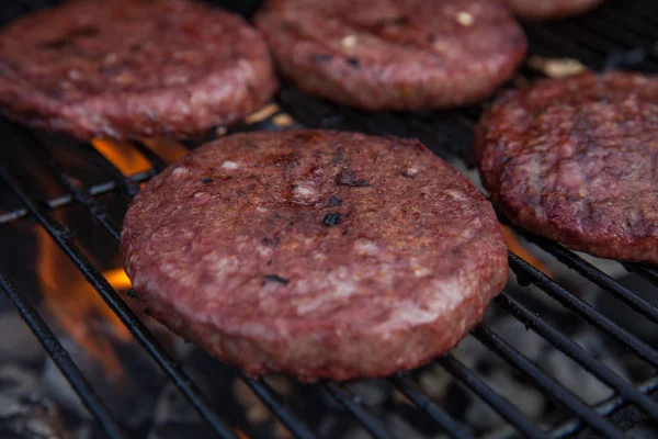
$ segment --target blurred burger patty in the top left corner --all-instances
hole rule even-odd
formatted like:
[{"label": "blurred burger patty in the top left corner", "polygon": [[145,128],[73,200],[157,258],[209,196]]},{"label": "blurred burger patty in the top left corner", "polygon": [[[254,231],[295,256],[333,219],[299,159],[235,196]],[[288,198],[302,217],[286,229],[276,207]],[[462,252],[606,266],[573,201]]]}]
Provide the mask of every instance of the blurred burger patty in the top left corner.
[{"label": "blurred burger patty in the top left corner", "polygon": [[258,31],[194,0],[73,0],[0,32],[0,111],[83,139],[195,135],[275,88]]}]

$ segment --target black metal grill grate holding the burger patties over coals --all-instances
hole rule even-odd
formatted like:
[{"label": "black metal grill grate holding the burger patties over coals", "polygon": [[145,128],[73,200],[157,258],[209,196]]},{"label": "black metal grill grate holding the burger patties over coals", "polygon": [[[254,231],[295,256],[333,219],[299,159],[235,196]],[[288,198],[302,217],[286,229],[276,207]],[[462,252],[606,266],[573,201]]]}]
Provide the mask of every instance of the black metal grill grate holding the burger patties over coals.
[{"label": "black metal grill grate holding the burger patties over coals", "polygon": [[[29,10],[31,5],[41,5],[41,2],[33,3],[24,10]],[[570,56],[580,59],[588,67],[597,70],[616,67],[640,71],[658,71],[658,56],[654,52],[654,43],[658,40],[658,31],[656,31],[658,10],[650,10],[650,4],[648,1],[644,3],[640,1],[610,1],[603,8],[583,18],[558,23],[530,24],[526,26],[526,31],[531,38],[531,53],[543,56]],[[23,12],[23,10],[19,12]],[[522,72],[529,76],[534,75],[526,70],[522,70]],[[419,137],[440,156],[451,159],[457,157],[467,165],[472,165],[468,147],[469,133],[479,114],[477,108],[422,114],[367,114],[303,95],[287,86],[281,93],[281,104],[306,126],[359,130],[376,134]],[[256,125],[242,126],[236,130],[276,128],[271,121],[272,117]],[[23,179],[16,178],[15,172],[8,171],[9,166],[0,161],[0,183],[7,184],[21,203],[19,209],[0,213],[0,226],[11,228],[19,218],[34,218],[76,264],[106,305],[118,316],[135,339],[141,344],[154,361],[166,372],[201,417],[212,427],[216,436],[238,438],[238,435],[212,406],[208,398],[204,396],[182,367],[173,360],[154,334],[128,307],[99,269],[94,267],[89,257],[77,246],[71,233],[53,215],[55,210],[64,205],[80,205],[86,210],[88,216],[93,218],[117,244],[120,227],[107,213],[101,195],[114,192],[132,198],[138,192],[139,183],[147,181],[157,171],[163,169],[167,164],[147,146],[135,144],[141,155],[149,160],[151,167],[145,172],[124,177],[121,170],[103,155],[90,145],[80,144],[76,146],[79,154],[98,166],[107,177],[101,183],[82,188],[75,183],[75,177],[66,170],[66,166],[60,164],[58,157],[54,156],[52,149],[47,147],[48,137],[39,136],[13,125],[5,126],[9,133],[20,133],[24,137],[24,145],[22,146],[46,165],[49,175],[64,188],[65,194],[42,201],[37,195],[32,194],[30,180],[25,184]],[[191,147],[194,147],[194,145]],[[502,221],[504,222],[504,218]],[[529,235],[523,230],[518,232],[529,241],[628,305],[638,315],[644,316],[653,324],[658,324],[658,307],[623,286],[612,277],[556,243]],[[649,346],[627,329],[600,314],[587,302],[513,252],[509,255],[509,262],[520,283],[536,285],[565,308],[570,309],[581,319],[587,320],[603,334],[615,339],[626,350],[632,351],[654,368],[658,368],[658,350],[655,347]],[[636,263],[626,263],[625,267],[628,271],[636,272],[658,284],[658,270],[655,268]],[[0,285],[80,396],[84,406],[98,419],[106,436],[112,439],[128,437],[122,430],[122,426],[113,419],[110,410],[103,404],[102,397],[99,397],[91,389],[81,371],[72,362],[36,308],[2,268],[0,268]],[[574,417],[572,420],[547,431],[523,415],[514,404],[496,392],[491,385],[454,358],[453,354],[449,353],[436,360],[439,367],[487,403],[519,434],[530,438],[561,438],[580,435],[583,431],[595,431],[601,437],[622,438],[625,437],[624,429],[658,421],[658,403],[656,402],[658,376],[653,378],[643,385],[634,386],[593,358],[564,331],[536,314],[524,301],[520,301],[509,292],[503,292],[496,300],[496,303],[529,329],[532,329],[576,361],[580,368],[587,370],[616,392],[615,397],[599,406],[590,407],[574,392],[566,389],[556,379],[515,350],[502,337],[486,325],[480,325],[473,331],[473,336],[480,344],[517,369],[548,398],[567,408]],[[236,372],[236,375],[253,391],[294,437],[303,439],[318,437],[296,413],[293,413],[280,399],[277,394],[263,380],[251,379],[240,372]],[[402,373],[390,379],[390,382],[446,435],[460,439],[473,437],[465,426],[451,417],[445,407],[441,407],[432,401],[432,397],[416,382],[412,373]],[[331,398],[342,405],[371,436],[382,439],[394,437],[386,423],[374,414],[361,397],[354,395],[348,386],[337,383],[320,383],[318,385]]]}]

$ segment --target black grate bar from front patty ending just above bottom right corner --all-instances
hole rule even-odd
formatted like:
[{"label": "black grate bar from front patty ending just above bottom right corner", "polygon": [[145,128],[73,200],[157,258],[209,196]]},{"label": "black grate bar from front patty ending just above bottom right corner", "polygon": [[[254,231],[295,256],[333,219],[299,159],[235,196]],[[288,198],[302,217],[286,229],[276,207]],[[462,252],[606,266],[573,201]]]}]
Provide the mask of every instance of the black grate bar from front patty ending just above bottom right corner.
[{"label": "black grate bar from front patty ending just above bottom right corner", "polygon": [[582,365],[587,371],[601,380],[601,382],[617,391],[617,393],[627,401],[635,402],[647,413],[647,415],[658,420],[658,403],[639,392],[608,367],[597,361],[571,339],[544,322],[542,318],[537,317],[507,293],[502,293],[497,299],[497,303],[502,305],[504,309],[517,317],[519,322],[524,324],[526,327],[532,328],[545,340],[549,341],[561,352]]}]

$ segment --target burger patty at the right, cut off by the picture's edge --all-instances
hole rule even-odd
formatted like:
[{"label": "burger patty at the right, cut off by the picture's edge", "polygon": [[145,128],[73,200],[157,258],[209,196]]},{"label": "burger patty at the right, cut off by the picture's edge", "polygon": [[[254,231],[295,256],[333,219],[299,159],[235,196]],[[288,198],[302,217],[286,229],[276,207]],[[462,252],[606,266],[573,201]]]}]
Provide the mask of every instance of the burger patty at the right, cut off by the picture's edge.
[{"label": "burger patty at the right, cut off by the picture's edge", "polygon": [[512,91],[478,123],[485,185],[512,221],[591,255],[658,262],[658,79],[585,74]]}]

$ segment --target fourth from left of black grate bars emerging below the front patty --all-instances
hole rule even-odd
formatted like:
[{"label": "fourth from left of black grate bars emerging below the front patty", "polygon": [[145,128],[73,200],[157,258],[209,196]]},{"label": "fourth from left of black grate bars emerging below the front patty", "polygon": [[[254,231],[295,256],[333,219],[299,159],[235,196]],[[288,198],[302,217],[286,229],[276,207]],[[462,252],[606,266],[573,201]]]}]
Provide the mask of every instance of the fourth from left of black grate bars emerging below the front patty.
[{"label": "fourth from left of black grate bars emerging below the front patty", "polygon": [[[452,375],[457,378],[464,385],[470,389],[485,403],[487,403],[503,419],[513,425],[519,431],[529,438],[547,439],[549,436],[542,431],[532,420],[527,419],[512,403],[499,395],[479,376],[468,370],[462,362],[452,354],[446,354],[436,360],[439,364]],[[521,367],[517,364],[517,367]],[[525,372],[530,373],[530,372]]]}]

